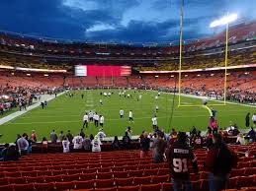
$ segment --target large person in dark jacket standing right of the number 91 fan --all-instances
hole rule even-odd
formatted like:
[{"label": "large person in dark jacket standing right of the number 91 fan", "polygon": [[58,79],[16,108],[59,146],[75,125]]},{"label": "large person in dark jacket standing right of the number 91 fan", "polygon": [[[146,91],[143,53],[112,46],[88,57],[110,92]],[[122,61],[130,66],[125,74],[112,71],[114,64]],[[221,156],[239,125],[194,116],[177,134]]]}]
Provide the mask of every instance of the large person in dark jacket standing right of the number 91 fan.
[{"label": "large person in dark jacket standing right of the number 91 fan", "polygon": [[220,134],[213,134],[213,147],[209,150],[206,167],[210,171],[210,191],[227,189],[229,174],[237,163],[236,154],[222,141]]}]

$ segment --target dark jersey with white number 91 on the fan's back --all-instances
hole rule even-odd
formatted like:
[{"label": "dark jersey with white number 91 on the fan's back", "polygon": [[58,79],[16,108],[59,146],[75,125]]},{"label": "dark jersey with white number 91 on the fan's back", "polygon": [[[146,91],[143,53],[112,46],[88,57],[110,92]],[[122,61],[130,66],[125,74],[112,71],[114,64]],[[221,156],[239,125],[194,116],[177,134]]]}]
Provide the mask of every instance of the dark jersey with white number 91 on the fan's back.
[{"label": "dark jersey with white number 91 on the fan's back", "polygon": [[190,177],[190,161],[195,156],[187,144],[175,142],[169,153],[171,177],[174,179],[186,180]]}]

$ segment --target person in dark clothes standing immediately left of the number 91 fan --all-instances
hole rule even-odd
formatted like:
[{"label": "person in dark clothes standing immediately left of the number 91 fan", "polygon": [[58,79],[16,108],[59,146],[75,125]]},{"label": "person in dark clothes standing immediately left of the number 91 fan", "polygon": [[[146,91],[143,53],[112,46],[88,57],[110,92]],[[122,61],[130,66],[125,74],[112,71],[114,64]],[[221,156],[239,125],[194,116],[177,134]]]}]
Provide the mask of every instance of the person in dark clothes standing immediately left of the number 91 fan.
[{"label": "person in dark clothes standing immediately left of the number 91 fan", "polygon": [[164,154],[167,148],[167,143],[164,140],[164,135],[162,133],[158,133],[156,135],[156,141],[153,144],[154,148],[154,157],[153,160],[155,163],[159,163],[164,161]]}]

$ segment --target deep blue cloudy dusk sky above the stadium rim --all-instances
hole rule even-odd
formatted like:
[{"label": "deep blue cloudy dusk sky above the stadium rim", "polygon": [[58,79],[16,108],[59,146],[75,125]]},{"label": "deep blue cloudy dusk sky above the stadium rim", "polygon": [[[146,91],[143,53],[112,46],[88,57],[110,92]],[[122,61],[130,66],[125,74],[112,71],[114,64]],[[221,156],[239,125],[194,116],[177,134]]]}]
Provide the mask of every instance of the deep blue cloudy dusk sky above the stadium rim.
[{"label": "deep blue cloudy dusk sky above the stadium rim", "polygon": [[[202,38],[213,20],[256,19],[256,0],[184,0],[184,38]],[[170,42],[179,38],[180,0],[1,0],[0,31],[95,42]]]}]

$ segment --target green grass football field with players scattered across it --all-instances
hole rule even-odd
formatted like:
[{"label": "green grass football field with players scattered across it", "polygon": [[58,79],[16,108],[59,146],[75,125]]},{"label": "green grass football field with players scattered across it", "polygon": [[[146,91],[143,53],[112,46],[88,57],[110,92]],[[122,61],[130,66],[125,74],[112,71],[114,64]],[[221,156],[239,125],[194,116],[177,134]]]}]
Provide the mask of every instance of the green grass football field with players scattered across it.
[{"label": "green grass football field with players scattered across it", "polygon": [[[94,110],[105,116],[104,131],[108,137],[115,135],[124,135],[128,126],[132,128],[133,135],[138,135],[142,130],[151,132],[151,118],[155,114],[156,101],[154,97],[156,92],[141,91],[134,93],[128,91],[133,98],[128,99],[119,96],[118,90],[112,90],[114,93],[111,97],[100,96],[97,91],[75,91],[75,96],[69,98],[62,95],[48,102],[46,109],[38,107],[26,114],[17,117],[0,126],[0,133],[3,136],[0,138],[1,143],[14,142],[17,133],[27,132],[29,135],[32,130],[36,130],[39,135],[39,140],[43,136],[49,138],[49,133],[55,129],[59,134],[61,130],[65,133],[71,130],[73,134],[77,134],[83,124],[83,115],[85,111]],[[107,91],[106,91],[107,92]],[[84,99],[81,94],[84,94]],[[136,97],[141,94],[142,99],[137,101]],[[103,105],[100,105],[99,100],[103,98]],[[157,113],[158,126],[160,129],[175,128],[179,131],[189,131],[193,125],[201,130],[206,130],[209,124],[209,111],[202,107],[179,107],[177,106],[178,96],[175,97],[173,119],[170,124],[170,116],[172,110],[173,96],[162,94],[158,98],[159,112]],[[198,98],[182,97],[182,102],[186,104],[202,104],[202,100]],[[209,103],[218,103],[210,101]],[[203,105],[203,104],[202,104]],[[125,118],[120,119],[120,108],[125,109]],[[230,121],[244,128],[244,118],[247,112],[255,112],[255,108],[227,104],[226,106],[214,106],[217,113],[217,120],[220,127],[228,126]],[[128,122],[128,110],[133,112],[134,123]],[[97,128],[91,123],[89,128],[85,129],[86,134],[95,134]]]}]

